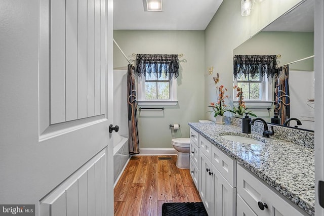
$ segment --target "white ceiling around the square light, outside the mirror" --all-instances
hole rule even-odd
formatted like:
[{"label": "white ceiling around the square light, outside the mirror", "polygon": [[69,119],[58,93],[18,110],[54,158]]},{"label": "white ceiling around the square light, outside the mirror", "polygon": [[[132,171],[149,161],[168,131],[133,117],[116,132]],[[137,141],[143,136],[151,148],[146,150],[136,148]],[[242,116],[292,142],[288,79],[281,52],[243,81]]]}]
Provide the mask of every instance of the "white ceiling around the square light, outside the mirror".
[{"label": "white ceiling around the square light, outside the mirror", "polygon": [[205,30],[223,0],[163,0],[146,12],[146,0],[114,0],[114,30]]}]

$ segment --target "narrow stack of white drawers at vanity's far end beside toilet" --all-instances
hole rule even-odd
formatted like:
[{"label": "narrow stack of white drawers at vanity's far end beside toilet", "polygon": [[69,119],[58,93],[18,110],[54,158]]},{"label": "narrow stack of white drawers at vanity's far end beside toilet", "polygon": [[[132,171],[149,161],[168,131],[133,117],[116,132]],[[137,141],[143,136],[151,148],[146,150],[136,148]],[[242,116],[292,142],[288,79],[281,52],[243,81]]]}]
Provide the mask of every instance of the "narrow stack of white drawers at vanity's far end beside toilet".
[{"label": "narrow stack of white drawers at vanity's far end beside toilet", "polygon": [[199,146],[198,133],[190,128],[190,175],[199,191]]}]

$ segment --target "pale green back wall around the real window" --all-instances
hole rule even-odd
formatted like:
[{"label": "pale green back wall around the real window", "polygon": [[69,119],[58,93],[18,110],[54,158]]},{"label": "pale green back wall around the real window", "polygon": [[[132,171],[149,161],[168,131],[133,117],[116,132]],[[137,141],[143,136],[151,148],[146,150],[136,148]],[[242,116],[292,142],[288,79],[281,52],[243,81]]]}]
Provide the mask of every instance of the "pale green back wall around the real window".
[{"label": "pale green back wall around the real window", "polygon": [[[164,111],[138,112],[140,148],[173,148],[171,139],[189,137],[188,122],[205,117],[204,97],[204,31],[115,30],[114,39],[129,59],[135,54],[184,54],[180,58],[177,78],[177,106]],[[183,60],[186,60],[184,62]],[[114,68],[125,68],[128,62],[114,46]],[[174,133],[170,124],[180,124]]]}]

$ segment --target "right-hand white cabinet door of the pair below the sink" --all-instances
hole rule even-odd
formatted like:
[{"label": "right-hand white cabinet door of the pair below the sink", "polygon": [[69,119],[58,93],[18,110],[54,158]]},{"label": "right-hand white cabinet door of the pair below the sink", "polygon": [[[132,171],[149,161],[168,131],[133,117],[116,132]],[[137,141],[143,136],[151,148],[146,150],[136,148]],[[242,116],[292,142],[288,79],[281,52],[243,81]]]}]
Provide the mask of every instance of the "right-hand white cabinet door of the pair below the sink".
[{"label": "right-hand white cabinet door of the pair below the sink", "polygon": [[212,165],[212,200],[215,216],[235,216],[236,188],[233,188],[221,175],[218,169]]}]

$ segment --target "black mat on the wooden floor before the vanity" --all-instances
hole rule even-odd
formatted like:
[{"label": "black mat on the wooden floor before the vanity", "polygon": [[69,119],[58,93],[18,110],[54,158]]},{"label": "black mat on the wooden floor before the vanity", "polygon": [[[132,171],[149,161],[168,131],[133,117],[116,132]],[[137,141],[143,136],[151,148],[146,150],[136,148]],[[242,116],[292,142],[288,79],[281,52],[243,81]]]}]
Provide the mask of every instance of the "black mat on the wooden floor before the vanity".
[{"label": "black mat on the wooden floor before the vanity", "polygon": [[162,216],[208,216],[203,202],[166,202]]}]

